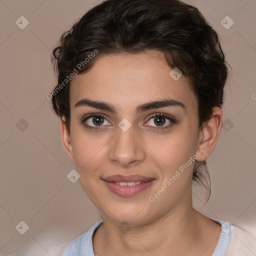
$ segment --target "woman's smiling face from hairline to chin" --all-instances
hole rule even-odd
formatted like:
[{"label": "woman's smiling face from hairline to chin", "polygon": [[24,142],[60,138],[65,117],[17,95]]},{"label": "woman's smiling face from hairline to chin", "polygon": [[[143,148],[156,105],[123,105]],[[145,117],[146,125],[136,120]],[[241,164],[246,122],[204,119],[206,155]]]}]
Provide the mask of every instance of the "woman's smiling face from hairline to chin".
[{"label": "woman's smiling face from hairline to chin", "polygon": [[197,100],[170,70],[157,51],[111,54],[71,80],[67,153],[86,195],[117,223],[147,223],[191,200]]}]

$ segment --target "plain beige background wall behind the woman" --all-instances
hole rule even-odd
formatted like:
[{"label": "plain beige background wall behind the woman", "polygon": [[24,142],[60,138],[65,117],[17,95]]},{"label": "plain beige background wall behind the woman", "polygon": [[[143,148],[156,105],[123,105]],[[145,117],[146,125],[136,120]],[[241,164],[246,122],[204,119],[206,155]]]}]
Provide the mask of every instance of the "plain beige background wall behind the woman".
[{"label": "plain beige background wall behind the woman", "polygon": [[[100,219],[78,181],[72,183],[66,177],[74,166],[62,149],[59,120],[46,98],[56,82],[50,55],[59,36],[98,2],[0,1],[2,256],[60,255],[73,238]],[[225,127],[208,159],[211,197],[204,204],[197,193],[194,205],[210,217],[245,229],[247,225],[255,227],[256,1],[189,3],[197,6],[219,33],[232,66],[223,107]],[[15,24],[22,15],[29,21],[24,29]],[[227,15],[234,21],[229,29],[220,23]],[[21,220],[29,226],[23,235],[15,229]]]}]

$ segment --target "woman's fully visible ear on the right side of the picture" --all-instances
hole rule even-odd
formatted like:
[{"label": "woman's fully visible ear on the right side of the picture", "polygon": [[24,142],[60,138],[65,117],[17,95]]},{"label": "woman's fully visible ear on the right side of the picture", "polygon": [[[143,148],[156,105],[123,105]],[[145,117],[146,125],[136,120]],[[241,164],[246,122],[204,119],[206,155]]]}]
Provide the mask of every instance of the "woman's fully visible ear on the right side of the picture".
[{"label": "woman's fully visible ear on the right side of the picture", "polygon": [[214,107],[210,119],[203,124],[199,131],[197,150],[201,152],[201,155],[197,157],[197,161],[205,160],[213,151],[221,126],[222,110],[219,107]]}]

